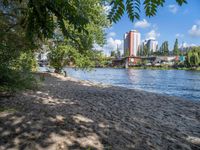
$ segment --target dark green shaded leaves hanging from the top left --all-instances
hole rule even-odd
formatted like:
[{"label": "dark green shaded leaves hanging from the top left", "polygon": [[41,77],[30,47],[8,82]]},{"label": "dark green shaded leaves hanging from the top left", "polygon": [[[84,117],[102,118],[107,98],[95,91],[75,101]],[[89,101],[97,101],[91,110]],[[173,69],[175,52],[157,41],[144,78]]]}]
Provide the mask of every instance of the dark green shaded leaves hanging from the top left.
[{"label": "dark green shaded leaves hanging from the top left", "polygon": [[[24,26],[27,36],[32,40],[38,37],[51,38],[56,24],[67,36],[68,31],[63,26],[66,20],[79,31],[89,22],[87,15],[82,11],[86,3],[81,3],[79,0],[3,0],[3,4],[6,9],[16,9],[22,14],[19,23]],[[17,7],[13,7],[13,4],[17,4]]]}]

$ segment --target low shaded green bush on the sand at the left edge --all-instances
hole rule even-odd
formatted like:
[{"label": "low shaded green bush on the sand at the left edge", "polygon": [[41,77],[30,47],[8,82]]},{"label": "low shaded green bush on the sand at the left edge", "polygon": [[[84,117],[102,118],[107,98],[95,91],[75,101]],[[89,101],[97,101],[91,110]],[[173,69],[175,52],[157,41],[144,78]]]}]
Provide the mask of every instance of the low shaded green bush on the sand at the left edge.
[{"label": "low shaded green bush on the sand at the left edge", "polygon": [[21,53],[8,65],[0,65],[0,92],[16,92],[37,87],[36,79],[31,73],[36,67],[35,57],[30,51]]}]

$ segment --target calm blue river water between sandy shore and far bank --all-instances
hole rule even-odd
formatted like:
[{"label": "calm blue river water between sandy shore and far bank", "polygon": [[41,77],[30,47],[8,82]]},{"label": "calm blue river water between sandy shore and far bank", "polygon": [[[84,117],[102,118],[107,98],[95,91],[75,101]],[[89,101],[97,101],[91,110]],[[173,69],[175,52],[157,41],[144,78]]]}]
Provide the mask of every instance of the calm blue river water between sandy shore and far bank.
[{"label": "calm blue river water between sandy shore and far bank", "polygon": [[98,68],[90,72],[66,68],[71,77],[200,101],[200,72]]}]

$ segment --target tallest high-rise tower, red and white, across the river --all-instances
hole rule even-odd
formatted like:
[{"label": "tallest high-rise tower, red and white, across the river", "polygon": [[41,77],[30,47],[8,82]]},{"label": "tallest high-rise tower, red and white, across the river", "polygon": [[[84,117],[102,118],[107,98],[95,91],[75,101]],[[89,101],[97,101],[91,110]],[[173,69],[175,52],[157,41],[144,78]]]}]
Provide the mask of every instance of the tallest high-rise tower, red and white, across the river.
[{"label": "tallest high-rise tower, red and white, across the river", "polygon": [[137,56],[140,50],[141,35],[137,30],[131,30],[124,35],[124,55]]}]

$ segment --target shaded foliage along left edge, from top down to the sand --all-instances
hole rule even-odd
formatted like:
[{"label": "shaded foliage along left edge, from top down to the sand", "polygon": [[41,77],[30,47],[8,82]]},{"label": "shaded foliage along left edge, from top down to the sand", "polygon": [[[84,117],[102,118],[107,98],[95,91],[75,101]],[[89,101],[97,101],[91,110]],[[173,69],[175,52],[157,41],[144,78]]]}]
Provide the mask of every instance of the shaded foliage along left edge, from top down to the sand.
[{"label": "shaded foliage along left edge, from top down to the sand", "polygon": [[19,5],[13,1],[9,8],[0,2],[0,92],[13,92],[35,87],[30,74],[36,68],[33,45],[22,26],[22,12],[15,10]]}]

